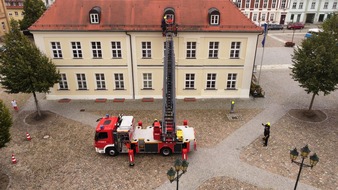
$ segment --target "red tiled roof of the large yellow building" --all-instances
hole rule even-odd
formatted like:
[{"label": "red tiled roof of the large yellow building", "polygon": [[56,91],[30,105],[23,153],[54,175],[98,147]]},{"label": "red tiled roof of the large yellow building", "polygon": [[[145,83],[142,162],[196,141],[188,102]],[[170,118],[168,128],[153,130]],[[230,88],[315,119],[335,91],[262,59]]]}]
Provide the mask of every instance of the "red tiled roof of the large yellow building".
[{"label": "red tiled roof of the large yellow building", "polygon": [[[101,8],[100,24],[89,22],[89,11]],[[160,31],[164,9],[175,10],[178,31],[261,32],[230,0],[57,0],[31,31]],[[211,26],[208,11],[220,12]]]}]

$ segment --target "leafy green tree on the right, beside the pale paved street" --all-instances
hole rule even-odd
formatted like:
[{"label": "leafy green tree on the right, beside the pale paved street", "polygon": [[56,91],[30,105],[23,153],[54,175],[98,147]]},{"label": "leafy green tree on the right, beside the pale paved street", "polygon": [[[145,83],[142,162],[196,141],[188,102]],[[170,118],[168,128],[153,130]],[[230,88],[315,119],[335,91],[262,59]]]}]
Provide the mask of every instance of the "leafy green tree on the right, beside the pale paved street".
[{"label": "leafy green tree on the right, beside the pale paved street", "polygon": [[323,23],[323,32],[303,40],[294,50],[291,76],[308,94],[312,93],[309,110],[319,92],[325,96],[337,89],[337,26],[337,14],[333,14]]}]

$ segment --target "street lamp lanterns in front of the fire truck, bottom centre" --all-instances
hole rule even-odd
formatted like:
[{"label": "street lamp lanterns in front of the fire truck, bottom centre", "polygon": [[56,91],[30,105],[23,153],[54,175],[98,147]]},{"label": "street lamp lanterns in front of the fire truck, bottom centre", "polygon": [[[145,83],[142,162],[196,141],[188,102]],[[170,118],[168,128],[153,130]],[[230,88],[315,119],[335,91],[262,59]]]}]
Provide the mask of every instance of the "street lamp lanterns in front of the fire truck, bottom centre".
[{"label": "street lamp lanterns in front of the fire truck, bottom centre", "polygon": [[[179,179],[185,172],[187,172],[188,166],[189,166],[188,161],[186,161],[186,160],[182,161],[180,159],[176,159],[174,167],[171,167],[168,170],[167,177],[168,177],[170,183],[172,183],[173,181],[177,182],[176,190],[178,190]],[[182,173],[180,173],[180,171],[182,171]],[[176,176],[175,176],[175,174],[176,174]]]}]

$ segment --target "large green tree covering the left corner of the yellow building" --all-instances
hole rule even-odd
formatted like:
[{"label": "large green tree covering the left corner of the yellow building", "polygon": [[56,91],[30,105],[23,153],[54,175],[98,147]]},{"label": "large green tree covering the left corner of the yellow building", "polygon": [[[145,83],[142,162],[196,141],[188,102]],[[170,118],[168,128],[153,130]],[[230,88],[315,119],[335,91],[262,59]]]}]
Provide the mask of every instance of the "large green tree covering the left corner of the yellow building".
[{"label": "large green tree covering the left corner of the yellow building", "polygon": [[36,92],[46,93],[58,82],[59,71],[52,60],[22,34],[18,22],[11,20],[0,56],[0,83],[8,93],[32,93],[41,116]]}]

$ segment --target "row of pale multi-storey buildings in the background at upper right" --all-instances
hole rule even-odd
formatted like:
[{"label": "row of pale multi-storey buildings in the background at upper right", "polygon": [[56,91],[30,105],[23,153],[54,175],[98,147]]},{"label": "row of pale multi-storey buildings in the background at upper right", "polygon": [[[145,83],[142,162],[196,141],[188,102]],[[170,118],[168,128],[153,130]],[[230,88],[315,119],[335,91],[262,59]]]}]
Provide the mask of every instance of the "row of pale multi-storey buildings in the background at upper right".
[{"label": "row of pale multi-storey buildings in the background at upper right", "polygon": [[337,11],[337,0],[233,0],[257,25],[289,22],[322,23]]}]

